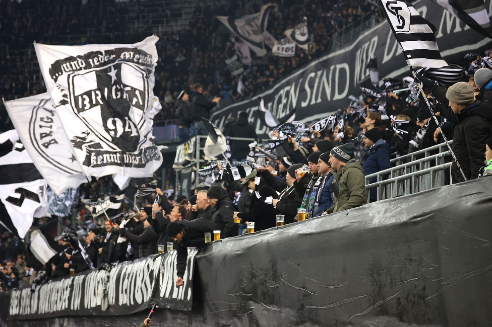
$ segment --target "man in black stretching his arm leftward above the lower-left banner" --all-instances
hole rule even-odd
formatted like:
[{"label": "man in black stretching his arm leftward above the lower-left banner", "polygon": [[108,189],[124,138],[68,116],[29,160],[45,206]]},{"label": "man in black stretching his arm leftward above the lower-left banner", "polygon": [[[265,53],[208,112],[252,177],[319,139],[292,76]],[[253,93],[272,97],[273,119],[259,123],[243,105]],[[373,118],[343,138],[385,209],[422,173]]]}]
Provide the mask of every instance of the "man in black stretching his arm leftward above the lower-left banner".
[{"label": "man in black stretching his arm leftward above the lower-left banner", "polygon": [[[150,210],[148,210],[150,209]],[[149,214],[147,214],[147,211]],[[152,208],[143,207],[140,211],[140,218],[144,219],[144,231],[140,235],[135,235],[128,230],[120,229],[118,224],[114,224],[114,227],[118,229],[119,235],[125,237],[133,244],[136,244],[139,248],[139,258],[145,258],[157,253],[157,239],[159,235],[152,228]],[[144,215],[142,215],[144,213]]]}]

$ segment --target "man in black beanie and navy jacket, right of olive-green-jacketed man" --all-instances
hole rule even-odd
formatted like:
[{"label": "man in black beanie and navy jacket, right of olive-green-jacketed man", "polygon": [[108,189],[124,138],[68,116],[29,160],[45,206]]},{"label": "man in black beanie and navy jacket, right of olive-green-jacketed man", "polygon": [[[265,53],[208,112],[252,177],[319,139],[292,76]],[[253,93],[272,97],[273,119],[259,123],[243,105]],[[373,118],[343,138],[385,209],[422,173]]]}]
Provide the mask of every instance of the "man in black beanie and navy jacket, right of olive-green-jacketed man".
[{"label": "man in black beanie and navy jacket, right of olive-green-jacketed man", "polygon": [[[429,112],[428,109],[427,112]],[[363,141],[365,146],[369,149],[365,155],[364,164],[362,165],[365,176],[391,168],[391,148],[388,143],[381,138],[381,134],[377,128],[366,131],[364,133]],[[383,179],[387,178],[388,175],[383,176]],[[377,178],[372,178],[369,180],[369,183],[375,183],[376,181]],[[373,188],[369,191],[370,202],[375,202],[377,196],[377,188]]]}]

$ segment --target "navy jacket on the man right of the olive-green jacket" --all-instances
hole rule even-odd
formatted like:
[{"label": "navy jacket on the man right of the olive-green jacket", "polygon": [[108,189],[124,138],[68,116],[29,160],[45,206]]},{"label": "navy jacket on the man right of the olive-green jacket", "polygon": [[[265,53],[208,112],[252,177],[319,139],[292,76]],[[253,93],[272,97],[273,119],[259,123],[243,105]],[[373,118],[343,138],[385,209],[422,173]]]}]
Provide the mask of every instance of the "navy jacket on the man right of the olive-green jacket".
[{"label": "navy jacket on the man right of the olive-green jacket", "polygon": [[[364,165],[362,165],[365,176],[391,168],[390,156],[390,146],[388,145],[388,143],[386,143],[385,140],[379,139],[365,155]],[[383,179],[386,178],[388,178],[388,175],[383,176]],[[369,180],[370,183],[374,183],[376,181],[377,178],[372,178]],[[376,200],[376,198],[377,188],[373,188],[369,192],[369,199]]]}]

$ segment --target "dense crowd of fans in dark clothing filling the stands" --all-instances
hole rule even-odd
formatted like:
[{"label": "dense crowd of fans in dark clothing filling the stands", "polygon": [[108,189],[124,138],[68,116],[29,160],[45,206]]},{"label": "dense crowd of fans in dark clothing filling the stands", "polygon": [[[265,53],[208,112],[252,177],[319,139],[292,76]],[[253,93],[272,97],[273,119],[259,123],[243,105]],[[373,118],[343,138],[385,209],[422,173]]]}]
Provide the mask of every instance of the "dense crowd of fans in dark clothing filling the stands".
[{"label": "dense crowd of fans in dark clothing filling the stands", "polygon": [[[120,29],[117,24],[122,24],[121,20],[115,20],[116,25],[111,25],[113,22],[108,25],[97,20],[99,13],[93,13],[97,23],[91,25],[91,20],[70,14],[78,8],[70,6],[78,5],[67,2],[47,7],[50,8],[47,13],[42,6],[34,7],[34,12],[38,10],[37,13],[48,16],[58,13],[62,17],[60,26],[54,26],[53,21],[51,25],[38,28],[39,22],[35,19],[15,15],[14,6],[18,6],[15,3],[0,1],[0,39],[9,43],[11,35],[16,34],[16,37],[22,34],[22,40],[29,44],[40,35],[49,42],[49,36],[55,30],[72,33],[85,26],[99,26],[111,31]],[[253,12],[259,11],[259,8],[253,9]],[[314,35],[312,47],[307,52],[297,50],[292,58],[271,54],[253,58],[242,76],[243,94],[237,91],[238,77],[227,72],[224,64],[224,59],[235,52],[230,35],[213,19],[211,9],[204,8],[202,15],[197,11],[189,25],[175,35],[175,42],[166,45],[159,58],[154,92],[163,102],[161,118],[177,119],[181,142],[194,132],[206,134],[200,119],[207,118],[217,106],[218,96],[223,100],[238,99],[268,88],[280,77],[321,56],[328,49],[331,34],[370,10],[367,1],[363,4],[355,1],[321,4],[312,0],[301,6],[284,1],[270,18],[267,30],[280,38],[285,29],[306,16]],[[214,13],[236,17],[246,14],[240,6]],[[79,20],[87,25],[79,24]],[[8,28],[4,27],[7,25]],[[309,124],[307,132],[300,137],[290,125],[274,129],[271,138],[281,144],[276,148],[263,148],[267,152],[265,162],[274,164],[248,171],[243,167],[240,180],[234,179],[237,167],[219,163],[211,171],[216,171],[219,178],[208,185],[197,185],[190,197],[167,196],[165,190],[143,182],[138,188],[146,189],[148,194],[139,197],[137,203],[124,202],[120,214],[111,219],[86,215],[83,235],[65,226],[66,232],[55,238],[58,255],[44,266],[23,241],[0,227],[2,291],[28,287],[36,283],[37,277],[40,281],[42,276],[49,280],[71,272],[83,272],[90,269],[91,264],[100,268],[143,258],[158,253],[159,246],[167,246],[170,242],[178,253],[177,275],[182,278],[186,268],[186,248],[202,246],[204,233],[220,230],[221,238],[231,237],[248,232],[247,223],[254,222],[254,230],[260,231],[277,226],[277,219],[282,219],[282,224],[289,224],[304,217],[310,219],[373,202],[376,193],[373,190],[366,192],[365,176],[390,168],[392,153],[404,155],[440,144],[444,141],[443,134],[453,140],[452,148],[467,179],[492,175],[492,107],[489,102],[492,70],[487,65],[492,61],[490,56],[492,52],[487,52],[484,58],[477,54],[467,56],[470,59],[467,80],[452,86],[438,85],[421,77],[432,113],[421,96],[414,94],[412,97],[413,80],[388,81],[383,89],[363,92],[361,99],[352,98],[347,108],[336,113],[335,123],[324,130],[309,130],[315,122]],[[8,56],[0,57],[0,61],[0,93],[10,97],[17,95],[18,91],[9,91],[21,81],[13,79],[17,78],[10,71],[13,63]],[[21,66],[24,64],[26,62],[20,63]],[[393,92],[402,88],[407,91]],[[35,92],[42,92],[42,88]],[[22,89],[20,94],[26,93],[27,90]],[[12,128],[5,108],[0,108],[0,116],[0,129]],[[237,120],[229,120],[224,134],[256,138],[255,129],[246,117],[239,113]],[[246,161],[250,157],[256,158],[257,148],[261,145],[250,146],[247,141],[238,141],[231,142],[230,147],[231,160]],[[451,173],[454,182],[463,181],[456,165],[452,166]],[[135,191],[136,188],[132,188],[127,193]],[[117,192],[119,189],[109,179],[101,179],[92,187],[82,185],[78,195],[86,199],[101,198]],[[79,206],[81,211],[82,207]],[[49,228],[49,221],[53,220],[36,219],[33,228]],[[83,249],[79,246],[79,238]],[[89,260],[82,256],[83,253]]]}]

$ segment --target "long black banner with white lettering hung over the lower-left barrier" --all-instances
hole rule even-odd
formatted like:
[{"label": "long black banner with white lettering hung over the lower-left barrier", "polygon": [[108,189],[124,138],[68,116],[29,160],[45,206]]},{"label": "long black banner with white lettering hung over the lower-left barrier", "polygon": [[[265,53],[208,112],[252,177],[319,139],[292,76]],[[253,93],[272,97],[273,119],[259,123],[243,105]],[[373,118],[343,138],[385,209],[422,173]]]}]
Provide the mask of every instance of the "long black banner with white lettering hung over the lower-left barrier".
[{"label": "long black banner with white lettering hung over the lower-left barrier", "polygon": [[[121,315],[142,311],[158,301],[160,308],[192,309],[195,248],[188,250],[188,265],[183,286],[176,287],[176,254],[171,251],[111,270],[49,281],[31,288],[15,289],[8,310],[9,319],[39,319],[72,315]],[[6,312],[2,312],[4,317]]]}]

